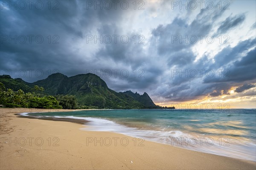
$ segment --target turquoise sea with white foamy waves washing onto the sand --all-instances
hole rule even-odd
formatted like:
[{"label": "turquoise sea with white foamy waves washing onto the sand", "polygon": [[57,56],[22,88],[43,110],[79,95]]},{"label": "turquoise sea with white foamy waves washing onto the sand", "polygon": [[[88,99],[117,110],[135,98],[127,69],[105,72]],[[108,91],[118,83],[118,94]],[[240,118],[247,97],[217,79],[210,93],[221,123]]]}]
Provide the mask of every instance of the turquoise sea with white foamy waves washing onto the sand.
[{"label": "turquoise sea with white foamy waves washing onto the sand", "polygon": [[189,150],[256,161],[255,109],[109,109],[21,115],[88,121],[84,130],[122,133]]}]

